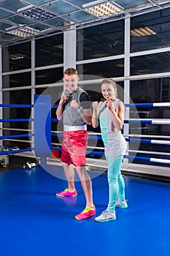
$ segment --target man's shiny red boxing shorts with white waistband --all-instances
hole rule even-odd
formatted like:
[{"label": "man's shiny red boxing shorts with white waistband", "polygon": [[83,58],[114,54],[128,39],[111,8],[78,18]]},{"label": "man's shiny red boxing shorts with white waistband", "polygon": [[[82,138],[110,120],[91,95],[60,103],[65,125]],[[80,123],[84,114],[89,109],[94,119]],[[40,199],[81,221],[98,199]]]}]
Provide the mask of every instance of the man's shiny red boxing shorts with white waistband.
[{"label": "man's shiny red boxing shorts with white waistband", "polygon": [[86,148],[88,143],[88,131],[63,132],[61,161],[74,166],[86,165]]}]

